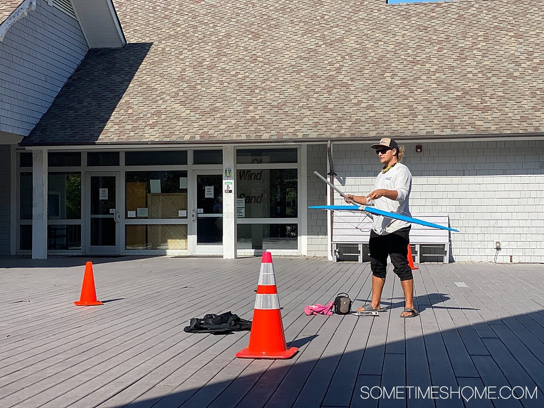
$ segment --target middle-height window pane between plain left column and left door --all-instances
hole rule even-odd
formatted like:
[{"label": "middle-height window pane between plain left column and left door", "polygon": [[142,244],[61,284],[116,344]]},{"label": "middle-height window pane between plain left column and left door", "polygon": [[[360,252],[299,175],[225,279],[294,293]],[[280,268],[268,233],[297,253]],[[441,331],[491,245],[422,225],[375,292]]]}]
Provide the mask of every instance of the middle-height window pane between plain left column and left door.
[{"label": "middle-height window pane between plain left column and left door", "polygon": [[48,219],[81,218],[81,173],[50,173],[47,186]]}]

